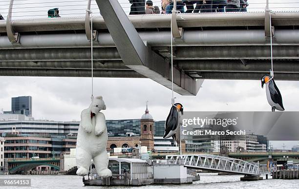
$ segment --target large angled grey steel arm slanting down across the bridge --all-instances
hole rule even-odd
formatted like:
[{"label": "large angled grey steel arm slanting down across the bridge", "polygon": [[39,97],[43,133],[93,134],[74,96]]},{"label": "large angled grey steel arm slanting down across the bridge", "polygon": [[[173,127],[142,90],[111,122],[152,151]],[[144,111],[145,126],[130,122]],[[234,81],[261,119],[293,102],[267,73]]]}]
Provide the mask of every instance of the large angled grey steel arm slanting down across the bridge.
[{"label": "large angled grey steel arm slanting down across the bridge", "polygon": [[[123,62],[145,77],[171,89],[169,62],[142,41],[117,0],[96,0],[107,29]],[[196,95],[200,81],[182,70],[173,70],[174,91],[181,95]]]}]

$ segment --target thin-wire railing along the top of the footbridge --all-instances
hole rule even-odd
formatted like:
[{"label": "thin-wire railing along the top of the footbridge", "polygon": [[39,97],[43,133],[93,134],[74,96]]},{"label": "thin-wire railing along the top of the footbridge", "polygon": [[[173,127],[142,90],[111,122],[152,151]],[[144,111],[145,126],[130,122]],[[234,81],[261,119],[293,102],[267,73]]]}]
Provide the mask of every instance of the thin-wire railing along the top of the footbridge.
[{"label": "thin-wire railing along the top of the footbridge", "polygon": [[[144,14],[145,8],[140,4],[131,4],[129,0],[118,0],[123,7],[126,14]],[[142,0],[139,0],[142,1]],[[144,0],[146,1],[146,0]],[[205,12],[215,12],[217,11],[217,6],[213,0],[206,0],[206,4],[202,6],[203,0],[186,0],[185,3],[194,3],[193,8],[200,12],[199,14],[206,14]],[[267,0],[247,0],[248,6],[246,11],[249,13],[255,12],[265,12]],[[0,14],[6,20],[9,13],[9,5],[12,6],[12,20],[23,20],[23,19],[47,19],[48,10],[53,8],[59,9],[59,15],[62,18],[70,17],[85,17],[87,4],[89,0],[0,0]],[[153,6],[159,8],[158,14],[162,14],[161,0],[152,0]],[[196,8],[196,3],[198,4]],[[90,2],[90,10],[94,17],[101,16],[98,5],[95,0]],[[214,5],[214,6],[209,6]],[[141,7],[140,7],[141,6]],[[192,4],[191,4],[192,6]],[[292,11],[299,12],[299,2],[298,0],[291,0],[289,2],[280,0],[269,0],[269,9],[272,11]],[[187,6],[184,6],[184,11],[187,11]],[[239,11],[244,11],[245,9],[238,9]],[[189,9],[191,11],[191,9]],[[188,12],[188,11],[187,11]],[[191,13],[192,14],[192,13]],[[194,14],[194,13],[193,13]],[[218,13],[221,14],[221,13]],[[49,18],[53,19],[53,18]]]}]

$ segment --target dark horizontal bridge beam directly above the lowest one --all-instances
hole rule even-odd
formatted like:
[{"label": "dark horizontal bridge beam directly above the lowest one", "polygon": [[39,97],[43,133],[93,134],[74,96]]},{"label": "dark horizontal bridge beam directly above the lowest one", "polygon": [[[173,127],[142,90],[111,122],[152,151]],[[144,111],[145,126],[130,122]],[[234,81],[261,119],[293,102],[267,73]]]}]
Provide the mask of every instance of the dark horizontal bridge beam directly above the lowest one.
[{"label": "dark horizontal bridge beam directly above the lowest one", "polygon": [[[299,73],[299,60],[276,60],[276,73]],[[270,60],[180,60],[175,66],[185,72],[256,72],[269,71]],[[0,62],[0,68],[90,69],[90,61],[15,61]],[[94,61],[94,69],[131,70],[122,61]]]}]

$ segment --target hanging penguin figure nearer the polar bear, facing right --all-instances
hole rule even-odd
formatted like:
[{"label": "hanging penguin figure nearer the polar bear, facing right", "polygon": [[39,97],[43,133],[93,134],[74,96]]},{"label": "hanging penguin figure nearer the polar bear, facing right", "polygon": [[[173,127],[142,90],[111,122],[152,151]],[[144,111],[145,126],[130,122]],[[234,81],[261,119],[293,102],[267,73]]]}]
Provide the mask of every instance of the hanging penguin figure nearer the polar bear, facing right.
[{"label": "hanging penguin figure nearer the polar bear, facing right", "polygon": [[175,133],[180,128],[180,121],[183,114],[183,105],[180,103],[172,105],[165,123],[164,139],[172,137],[175,140]]}]

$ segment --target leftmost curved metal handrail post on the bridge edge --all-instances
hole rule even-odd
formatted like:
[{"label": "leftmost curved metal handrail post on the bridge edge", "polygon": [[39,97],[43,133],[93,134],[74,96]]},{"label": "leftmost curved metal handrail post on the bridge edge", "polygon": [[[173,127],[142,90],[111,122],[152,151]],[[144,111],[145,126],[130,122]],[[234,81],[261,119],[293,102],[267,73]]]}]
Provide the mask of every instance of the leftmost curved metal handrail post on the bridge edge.
[{"label": "leftmost curved metal handrail post on the bridge edge", "polygon": [[9,9],[8,15],[6,20],[6,33],[9,41],[12,44],[20,45],[20,34],[16,33],[12,27],[11,16],[12,16],[12,9],[13,9],[14,0],[10,0],[9,2]]}]

